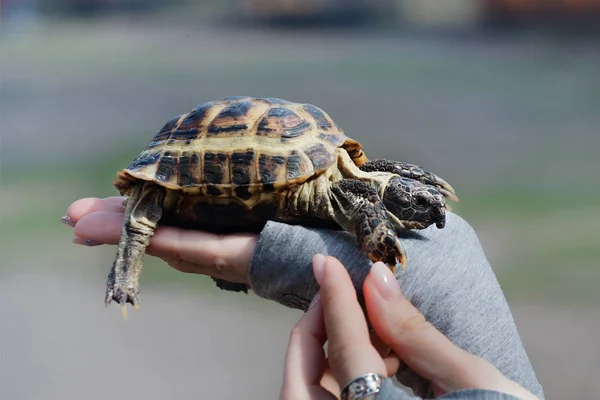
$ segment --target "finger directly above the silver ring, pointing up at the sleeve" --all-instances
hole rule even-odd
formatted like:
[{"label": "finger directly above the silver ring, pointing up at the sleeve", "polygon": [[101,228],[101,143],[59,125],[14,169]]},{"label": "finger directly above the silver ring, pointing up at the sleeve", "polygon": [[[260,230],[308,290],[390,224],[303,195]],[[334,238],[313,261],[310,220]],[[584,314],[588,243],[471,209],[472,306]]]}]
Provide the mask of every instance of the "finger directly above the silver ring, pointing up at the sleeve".
[{"label": "finger directly above the silver ring, pointing up at the sleeve", "polygon": [[386,366],[371,344],[363,311],[344,266],[322,255],[314,257],[313,266],[321,288],[329,364],[340,386],[369,372],[386,375]]}]

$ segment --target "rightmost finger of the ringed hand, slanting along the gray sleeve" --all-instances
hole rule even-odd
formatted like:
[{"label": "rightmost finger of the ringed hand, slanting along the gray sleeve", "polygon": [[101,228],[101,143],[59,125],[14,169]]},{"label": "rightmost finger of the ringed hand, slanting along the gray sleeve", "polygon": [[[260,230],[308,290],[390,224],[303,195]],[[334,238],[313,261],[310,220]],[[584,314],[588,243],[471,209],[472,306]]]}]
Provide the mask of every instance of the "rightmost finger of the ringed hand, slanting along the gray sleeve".
[{"label": "rightmost finger of the ringed hand, slanting along the gray sleeve", "polygon": [[[530,396],[504,377],[488,361],[454,345],[408,301],[396,278],[383,263],[375,263],[363,291],[375,332],[392,351],[441,393],[465,388],[485,388],[517,397]],[[514,385],[522,389],[517,394]]]}]

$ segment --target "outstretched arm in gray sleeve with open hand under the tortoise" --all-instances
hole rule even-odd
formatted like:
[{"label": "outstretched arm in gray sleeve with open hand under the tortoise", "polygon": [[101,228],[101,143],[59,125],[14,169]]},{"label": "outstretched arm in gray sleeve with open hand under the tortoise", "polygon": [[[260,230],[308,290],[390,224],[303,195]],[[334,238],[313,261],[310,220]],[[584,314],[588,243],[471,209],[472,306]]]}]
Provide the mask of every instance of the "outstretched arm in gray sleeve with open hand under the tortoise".
[{"label": "outstretched arm in gray sleeve with open hand under the tortoise", "polygon": [[[116,244],[122,201],[82,199],[71,205],[66,222],[74,225],[75,241]],[[403,244],[409,264],[398,278],[405,296],[452,342],[489,360],[542,398],[508,304],[472,228],[449,213],[444,229],[407,232]],[[250,283],[259,296],[303,310],[318,290],[311,266],[315,253],[340,259],[359,292],[371,264],[345,232],[276,222],[269,222],[260,237],[159,227],[148,252],[180,271]],[[414,387],[418,380],[405,373],[412,370],[401,371],[399,380]]]}]

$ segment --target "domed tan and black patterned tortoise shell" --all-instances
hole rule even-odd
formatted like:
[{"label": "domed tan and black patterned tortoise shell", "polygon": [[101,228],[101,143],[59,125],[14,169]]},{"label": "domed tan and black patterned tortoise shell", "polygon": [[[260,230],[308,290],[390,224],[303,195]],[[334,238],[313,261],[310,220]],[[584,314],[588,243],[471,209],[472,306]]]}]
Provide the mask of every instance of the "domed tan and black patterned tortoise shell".
[{"label": "domed tan and black patterned tortoise shell", "polygon": [[114,185],[129,194],[136,180],[173,190],[240,200],[283,191],[337,162],[342,147],[368,161],[355,140],[323,110],[277,98],[228,97],[167,122]]}]

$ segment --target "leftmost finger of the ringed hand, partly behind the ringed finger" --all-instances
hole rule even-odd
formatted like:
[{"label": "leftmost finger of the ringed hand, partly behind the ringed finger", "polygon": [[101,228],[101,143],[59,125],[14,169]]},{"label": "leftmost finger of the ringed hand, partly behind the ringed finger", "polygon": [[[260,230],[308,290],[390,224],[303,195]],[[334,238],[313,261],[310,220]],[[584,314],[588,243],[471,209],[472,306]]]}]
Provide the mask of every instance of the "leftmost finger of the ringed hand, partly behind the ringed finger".
[{"label": "leftmost finger of the ringed hand, partly behind the ringed finger", "polygon": [[292,329],[285,356],[282,399],[335,399],[321,386],[327,365],[323,349],[326,340],[323,308],[317,295]]}]

